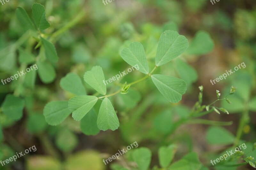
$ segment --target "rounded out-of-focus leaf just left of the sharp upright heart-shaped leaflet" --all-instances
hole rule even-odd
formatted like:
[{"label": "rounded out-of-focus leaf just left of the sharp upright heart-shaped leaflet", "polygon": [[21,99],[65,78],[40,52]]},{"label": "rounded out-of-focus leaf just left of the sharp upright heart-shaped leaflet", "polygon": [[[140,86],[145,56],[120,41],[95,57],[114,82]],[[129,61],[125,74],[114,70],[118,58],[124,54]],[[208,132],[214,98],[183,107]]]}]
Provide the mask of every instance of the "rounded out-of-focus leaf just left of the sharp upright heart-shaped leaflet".
[{"label": "rounded out-of-focus leaf just left of the sharp upright heart-shaped leaflet", "polygon": [[82,80],[76,73],[68,73],[64,78],[61,78],[60,87],[77,96],[86,95]]}]

